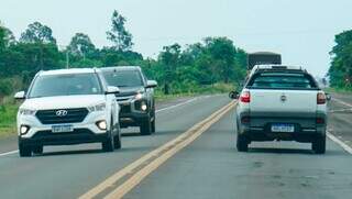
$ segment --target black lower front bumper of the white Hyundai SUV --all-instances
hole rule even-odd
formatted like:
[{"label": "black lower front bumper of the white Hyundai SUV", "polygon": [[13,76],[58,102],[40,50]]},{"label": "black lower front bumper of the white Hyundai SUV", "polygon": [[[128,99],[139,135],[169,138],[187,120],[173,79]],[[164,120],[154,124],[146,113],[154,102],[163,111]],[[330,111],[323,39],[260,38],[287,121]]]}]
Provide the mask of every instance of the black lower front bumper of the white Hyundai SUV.
[{"label": "black lower front bumper of the white Hyundai SUV", "polygon": [[31,139],[19,136],[21,145],[72,145],[82,143],[103,142],[108,139],[108,133],[95,134],[89,129],[76,129],[70,133],[52,133],[51,131],[40,131]]}]

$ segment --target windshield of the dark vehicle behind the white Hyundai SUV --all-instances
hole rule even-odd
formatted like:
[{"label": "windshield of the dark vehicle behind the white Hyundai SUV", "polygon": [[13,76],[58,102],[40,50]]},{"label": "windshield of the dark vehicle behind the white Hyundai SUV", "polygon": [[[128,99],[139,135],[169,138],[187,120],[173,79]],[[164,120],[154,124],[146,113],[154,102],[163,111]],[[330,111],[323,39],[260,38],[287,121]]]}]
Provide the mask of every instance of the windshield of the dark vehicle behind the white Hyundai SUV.
[{"label": "windshield of the dark vehicle behind the white Hyundai SUV", "polygon": [[142,76],[138,70],[105,71],[108,84],[116,87],[141,87]]}]

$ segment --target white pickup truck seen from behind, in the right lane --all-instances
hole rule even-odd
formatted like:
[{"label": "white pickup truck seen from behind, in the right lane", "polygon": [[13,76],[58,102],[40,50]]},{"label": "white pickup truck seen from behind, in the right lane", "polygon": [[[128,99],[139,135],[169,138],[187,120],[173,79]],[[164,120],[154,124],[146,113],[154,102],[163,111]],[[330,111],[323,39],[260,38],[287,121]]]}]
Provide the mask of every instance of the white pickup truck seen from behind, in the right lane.
[{"label": "white pickup truck seen from behind, in the right lane", "polygon": [[237,147],[246,152],[253,141],[311,143],[326,152],[327,98],[300,67],[262,65],[252,69],[237,107]]}]

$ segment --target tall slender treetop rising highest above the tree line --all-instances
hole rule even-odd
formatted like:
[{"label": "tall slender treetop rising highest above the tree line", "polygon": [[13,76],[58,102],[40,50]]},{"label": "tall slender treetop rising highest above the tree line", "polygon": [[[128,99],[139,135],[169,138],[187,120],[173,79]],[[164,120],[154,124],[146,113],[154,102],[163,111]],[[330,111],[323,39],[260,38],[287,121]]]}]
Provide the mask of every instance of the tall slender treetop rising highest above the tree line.
[{"label": "tall slender treetop rising highest above the tree line", "polygon": [[114,48],[118,51],[132,49],[132,34],[124,27],[125,18],[117,10],[113,11],[111,18],[111,30],[107,32],[108,40],[114,43]]}]

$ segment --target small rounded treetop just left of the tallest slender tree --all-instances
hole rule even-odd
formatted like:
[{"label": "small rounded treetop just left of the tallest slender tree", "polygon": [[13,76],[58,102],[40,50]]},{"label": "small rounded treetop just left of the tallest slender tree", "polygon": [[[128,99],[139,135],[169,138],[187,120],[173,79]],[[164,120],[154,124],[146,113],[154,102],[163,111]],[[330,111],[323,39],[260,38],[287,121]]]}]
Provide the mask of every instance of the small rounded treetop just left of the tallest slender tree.
[{"label": "small rounded treetop just left of the tallest slender tree", "polygon": [[68,45],[68,51],[73,55],[81,56],[85,59],[87,55],[89,56],[96,52],[96,46],[87,34],[76,33]]}]

